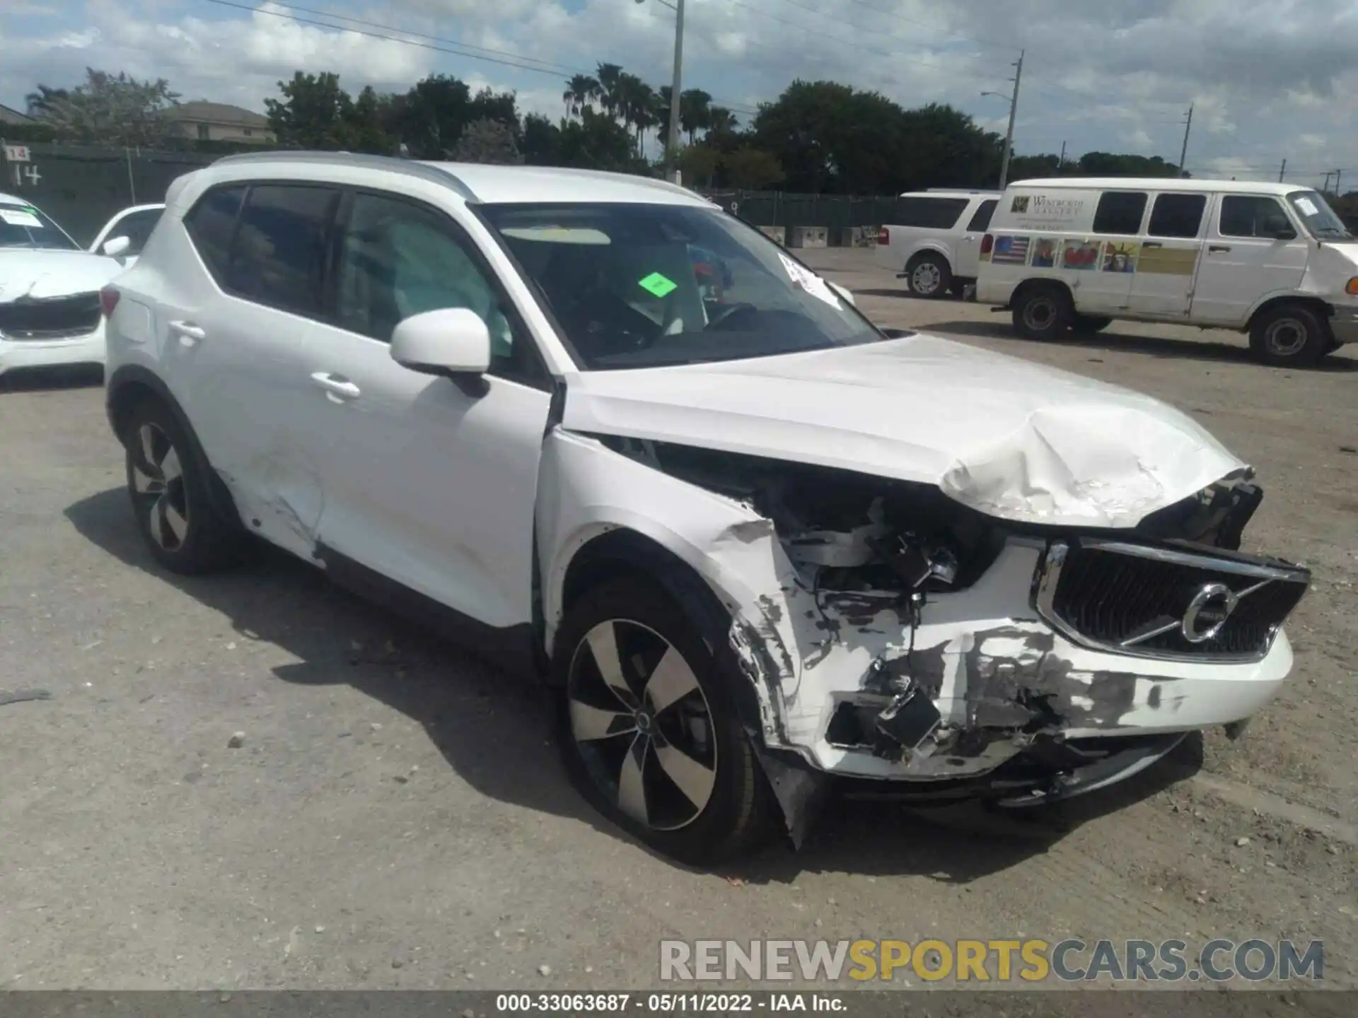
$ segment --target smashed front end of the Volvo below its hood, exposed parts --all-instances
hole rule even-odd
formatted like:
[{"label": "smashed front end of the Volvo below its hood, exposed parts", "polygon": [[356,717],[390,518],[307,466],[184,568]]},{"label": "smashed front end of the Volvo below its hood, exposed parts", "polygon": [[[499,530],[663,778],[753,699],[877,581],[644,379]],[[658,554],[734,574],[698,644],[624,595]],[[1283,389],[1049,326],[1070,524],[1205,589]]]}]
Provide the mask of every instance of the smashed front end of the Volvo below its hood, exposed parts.
[{"label": "smashed front end of the Volvo below its hood, exposed parts", "polygon": [[724,596],[775,789],[792,761],[860,791],[1050,801],[1248,718],[1291,665],[1281,626],[1309,573],[1238,551],[1248,471],[1078,532],[921,483],[599,441],[747,510],[705,552],[748,585]]}]

